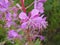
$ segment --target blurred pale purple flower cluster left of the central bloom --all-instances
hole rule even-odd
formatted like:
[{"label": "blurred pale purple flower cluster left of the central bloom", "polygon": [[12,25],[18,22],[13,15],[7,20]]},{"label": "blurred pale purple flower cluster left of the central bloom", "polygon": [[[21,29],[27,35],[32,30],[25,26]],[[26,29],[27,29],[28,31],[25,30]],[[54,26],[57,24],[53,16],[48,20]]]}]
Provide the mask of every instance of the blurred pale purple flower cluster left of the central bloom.
[{"label": "blurred pale purple flower cluster left of the central bloom", "polygon": [[[13,7],[13,9],[16,8],[16,7]],[[6,21],[6,24],[5,24],[5,27],[8,27],[10,28],[12,25],[13,26],[16,26],[16,20],[18,20],[18,17],[17,17],[17,12],[16,11],[13,11],[13,14],[11,12],[6,12],[6,15],[5,15],[5,21]]]}]

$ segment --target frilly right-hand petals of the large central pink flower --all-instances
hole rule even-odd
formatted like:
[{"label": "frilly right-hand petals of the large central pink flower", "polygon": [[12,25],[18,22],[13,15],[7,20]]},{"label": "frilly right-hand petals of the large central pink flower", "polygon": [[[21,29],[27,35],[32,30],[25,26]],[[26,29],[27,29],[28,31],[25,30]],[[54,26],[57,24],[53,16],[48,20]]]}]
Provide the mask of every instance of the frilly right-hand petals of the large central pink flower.
[{"label": "frilly right-hand petals of the large central pink flower", "polygon": [[42,28],[46,28],[47,27],[46,19],[44,19],[42,17],[34,18],[33,21],[35,22],[36,26],[39,29],[42,29]]}]

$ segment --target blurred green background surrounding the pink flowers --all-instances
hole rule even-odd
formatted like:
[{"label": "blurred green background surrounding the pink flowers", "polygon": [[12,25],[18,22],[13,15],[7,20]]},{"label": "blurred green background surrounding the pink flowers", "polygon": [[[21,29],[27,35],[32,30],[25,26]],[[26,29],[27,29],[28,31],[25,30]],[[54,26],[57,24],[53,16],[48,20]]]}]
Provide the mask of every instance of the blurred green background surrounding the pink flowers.
[{"label": "blurred green background surrounding the pink flowers", "polygon": [[[25,0],[25,6],[31,4],[34,0]],[[14,2],[20,3],[19,0]],[[43,41],[43,45],[60,45],[60,0],[47,0],[44,4],[45,16],[47,16],[48,28],[44,30],[43,35],[45,35],[46,40]],[[27,12],[31,11],[33,6],[27,9]],[[3,21],[0,24],[4,25]],[[6,29],[0,25],[0,42],[6,39]],[[5,45],[13,45],[10,42],[6,42]]]}]

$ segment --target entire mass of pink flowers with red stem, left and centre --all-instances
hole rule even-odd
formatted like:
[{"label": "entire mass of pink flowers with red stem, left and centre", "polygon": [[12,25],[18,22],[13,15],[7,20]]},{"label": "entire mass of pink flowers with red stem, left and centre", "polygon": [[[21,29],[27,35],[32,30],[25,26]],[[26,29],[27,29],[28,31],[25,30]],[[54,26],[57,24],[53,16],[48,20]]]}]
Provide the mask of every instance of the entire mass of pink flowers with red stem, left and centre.
[{"label": "entire mass of pink flowers with red stem, left and centre", "polygon": [[[46,17],[44,14],[41,15],[44,13],[43,6],[45,2],[46,0],[34,0],[34,9],[32,9],[32,11],[29,13],[26,13],[23,0],[21,0],[21,8],[19,5],[18,7],[14,4],[11,6],[10,0],[0,0],[0,20],[3,20],[5,23],[3,27],[9,29],[8,38],[21,39],[21,34],[17,32],[18,29],[21,29],[21,31],[24,32],[23,38],[26,38],[25,35],[29,35],[32,40],[34,40],[36,37],[39,37],[40,40],[44,40],[44,36],[39,35],[39,33],[41,30],[46,29],[48,26]],[[21,12],[18,13],[18,10],[20,9]],[[26,34],[27,32],[28,34]]]}]

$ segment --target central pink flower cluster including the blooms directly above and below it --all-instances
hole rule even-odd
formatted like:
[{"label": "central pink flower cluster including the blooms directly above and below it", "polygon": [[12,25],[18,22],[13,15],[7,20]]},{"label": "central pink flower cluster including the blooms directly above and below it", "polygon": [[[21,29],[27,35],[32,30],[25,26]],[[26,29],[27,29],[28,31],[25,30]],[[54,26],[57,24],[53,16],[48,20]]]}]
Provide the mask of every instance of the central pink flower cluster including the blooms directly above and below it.
[{"label": "central pink flower cluster including the blooms directly above and below it", "polygon": [[[38,35],[39,32],[43,29],[46,29],[48,25],[46,17],[44,17],[44,14],[41,15],[42,13],[44,13],[44,2],[45,1],[35,0],[34,9],[32,11],[30,11],[28,14],[25,12],[21,12],[19,14],[19,18],[22,23],[20,28],[25,31],[30,30],[29,33],[32,39],[36,37],[39,37],[41,40],[44,39],[43,36]],[[36,32],[35,30],[37,30],[38,32]]]}]

